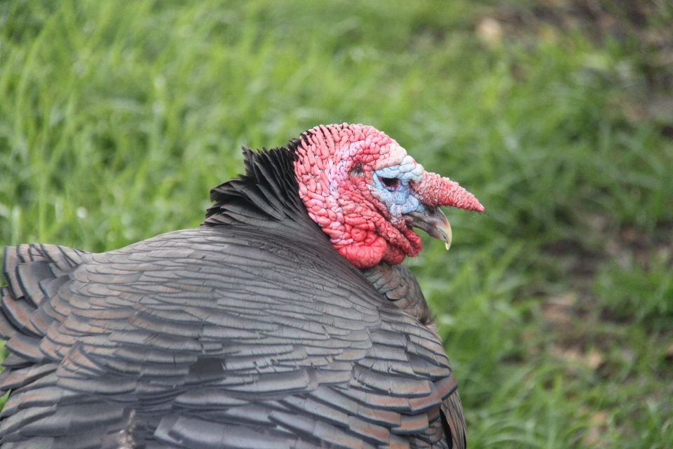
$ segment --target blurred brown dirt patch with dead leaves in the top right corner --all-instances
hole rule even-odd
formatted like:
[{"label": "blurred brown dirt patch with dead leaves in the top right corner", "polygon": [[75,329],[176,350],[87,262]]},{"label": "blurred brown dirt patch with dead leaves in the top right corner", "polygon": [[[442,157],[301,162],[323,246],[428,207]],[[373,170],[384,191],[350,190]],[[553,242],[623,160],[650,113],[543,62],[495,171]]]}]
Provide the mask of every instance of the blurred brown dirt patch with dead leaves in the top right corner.
[{"label": "blurred brown dirt patch with dead leaves in the top right corner", "polygon": [[658,123],[661,134],[673,139],[672,16],[667,1],[539,0],[494,8],[476,20],[475,32],[488,46],[502,39],[557,40],[568,32],[581,32],[599,44],[618,41],[631,66],[616,72],[638,72],[645,84],[620,100],[619,109],[630,121]]}]

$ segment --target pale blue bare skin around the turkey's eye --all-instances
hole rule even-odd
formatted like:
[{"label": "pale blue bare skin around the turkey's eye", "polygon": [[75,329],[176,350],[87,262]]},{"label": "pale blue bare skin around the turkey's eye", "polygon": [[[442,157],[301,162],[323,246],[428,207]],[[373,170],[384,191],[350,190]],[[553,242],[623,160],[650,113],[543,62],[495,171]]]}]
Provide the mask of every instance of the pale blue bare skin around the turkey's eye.
[{"label": "pale blue bare skin around the turkey's eye", "polygon": [[[414,196],[414,190],[409,182],[418,182],[418,176],[412,172],[401,173],[400,166],[390,166],[374,171],[374,185],[369,189],[372,195],[379,201],[386,204],[390,214],[390,222],[397,225],[400,220],[404,220],[405,213],[423,212],[423,204]],[[394,184],[385,180],[397,180]]]}]

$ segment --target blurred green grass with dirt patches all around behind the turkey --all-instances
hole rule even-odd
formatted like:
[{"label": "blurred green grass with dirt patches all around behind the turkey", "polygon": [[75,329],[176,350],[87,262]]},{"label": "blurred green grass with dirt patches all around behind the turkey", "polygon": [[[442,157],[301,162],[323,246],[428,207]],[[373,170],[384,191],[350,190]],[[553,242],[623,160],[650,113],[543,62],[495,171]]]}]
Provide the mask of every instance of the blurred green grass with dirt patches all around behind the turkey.
[{"label": "blurred green grass with dirt patches all around behind the turkey", "polygon": [[673,446],[667,1],[0,4],[0,243],[197,226],[240,145],[367,123],[470,189],[407,263],[472,448]]}]

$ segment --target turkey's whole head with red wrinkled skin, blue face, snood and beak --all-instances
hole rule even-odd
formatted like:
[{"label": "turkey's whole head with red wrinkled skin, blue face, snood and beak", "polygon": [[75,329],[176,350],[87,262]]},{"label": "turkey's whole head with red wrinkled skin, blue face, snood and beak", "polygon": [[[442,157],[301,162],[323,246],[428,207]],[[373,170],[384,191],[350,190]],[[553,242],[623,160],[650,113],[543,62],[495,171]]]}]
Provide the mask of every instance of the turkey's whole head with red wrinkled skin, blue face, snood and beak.
[{"label": "turkey's whole head with red wrinkled skin, blue face, snood and beak", "polygon": [[316,126],[289,146],[308,215],[355,267],[418,255],[421,237],[412,227],[449,249],[451,226],[439,206],[484,211],[457,182],[426,172],[372,126]]}]

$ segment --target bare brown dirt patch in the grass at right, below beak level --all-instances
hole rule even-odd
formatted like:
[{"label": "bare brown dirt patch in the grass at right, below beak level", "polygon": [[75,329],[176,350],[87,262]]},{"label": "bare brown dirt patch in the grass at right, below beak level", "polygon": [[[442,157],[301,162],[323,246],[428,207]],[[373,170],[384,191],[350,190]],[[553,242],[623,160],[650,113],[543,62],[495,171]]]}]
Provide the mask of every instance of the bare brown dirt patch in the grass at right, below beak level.
[{"label": "bare brown dirt patch in the grass at right, below beak level", "polygon": [[[605,299],[597,297],[596,276],[605,264],[617,263],[625,269],[637,265],[644,273],[650,267],[660,269],[662,263],[673,267],[673,223],[642,229],[616,226],[606,215],[590,215],[583,217],[579,226],[586,229],[583,233],[586,241],[560,239],[543,246],[545,257],[560,261],[560,277],[567,290],[543,295],[541,316],[546,332],[552,336],[548,340],[551,353],[564,364],[569,375],[588,369],[601,377],[611,377],[624,366],[631,366],[639,356],[630,348],[628,335],[623,332],[624,326],[634,323],[637,317],[619,313]],[[662,359],[673,362],[673,334],[645,323],[643,330],[657,342]]]}]

